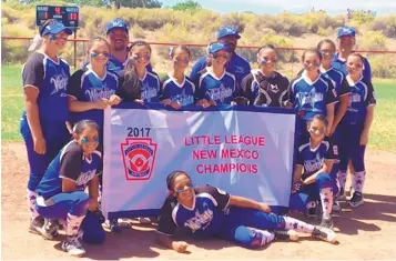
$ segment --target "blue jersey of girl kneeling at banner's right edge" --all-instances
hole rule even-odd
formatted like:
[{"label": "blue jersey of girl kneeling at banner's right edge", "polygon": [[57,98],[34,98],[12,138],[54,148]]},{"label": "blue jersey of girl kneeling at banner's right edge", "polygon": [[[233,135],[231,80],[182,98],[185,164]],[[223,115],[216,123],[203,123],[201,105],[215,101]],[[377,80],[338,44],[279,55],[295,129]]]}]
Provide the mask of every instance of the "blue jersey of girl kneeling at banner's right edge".
[{"label": "blue jersey of girl kneeling at banner's right edge", "polygon": [[304,135],[296,157],[296,164],[304,167],[303,180],[321,170],[324,160],[338,160],[337,145],[325,138],[316,148],[312,148],[309,137]]}]

